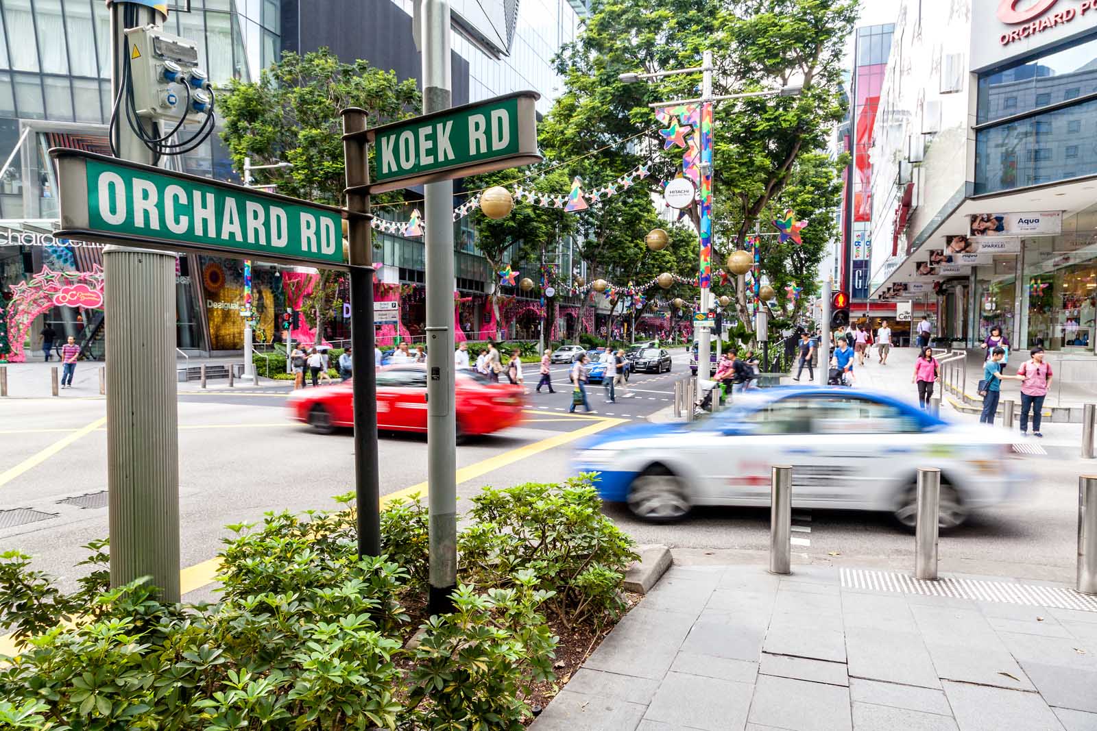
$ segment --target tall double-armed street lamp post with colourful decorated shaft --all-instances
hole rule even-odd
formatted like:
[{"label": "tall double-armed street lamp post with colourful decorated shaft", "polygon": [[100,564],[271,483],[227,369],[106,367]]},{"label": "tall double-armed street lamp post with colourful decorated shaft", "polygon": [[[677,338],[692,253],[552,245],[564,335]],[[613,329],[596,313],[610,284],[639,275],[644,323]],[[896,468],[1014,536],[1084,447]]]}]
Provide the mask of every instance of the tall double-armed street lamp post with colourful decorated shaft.
[{"label": "tall double-armed street lamp post with colourful decorated shaft", "polygon": [[[659,108],[665,106],[679,106],[682,104],[701,104],[701,116],[700,116],[700,127],[701,127],[701,145],[700,145],[700,230],[698,231],[701,239],[701,251],[699,256],[699,267],[698,267],[698,285],[701,289],[701,301],[700,311],[708,312],[711,307],[711,283],[712,283],[712,114],[713,114],[713,103],[730,99],[749,99],[755,96],[795,96],[802,90],[803,85],[787,85],[782,89],[774,89],[770,91],[748,91],[737,94],[724,94],[721,96],[714,96],[712,94],[712,52],[705,50],[701,56],[701,66],[693,66],[685,69],[674,69],[670,71],[656,71],[654,73],[622,73],[618,77],[624,83],[635,83],[641,79],[658,79],[666,76],[675,76],[679,73],[697,73],[700,71],[702,73],[701,81],[701,95],[697,99],[681,99],[671,102],[656,102],[655,104],[648,104],[649,107]],[[705,128],[710,132],[705,133]],[[736,287],[739,292],[739,296],[744,297],[745,284],[743,277],[739,277]],[[709,357],[710,345],[710,330],[709,325],[695,324],[694,335],[698,341],[698,362],[701,358]],[[698,378],[701,377],[701,369],[698,369]]]}]

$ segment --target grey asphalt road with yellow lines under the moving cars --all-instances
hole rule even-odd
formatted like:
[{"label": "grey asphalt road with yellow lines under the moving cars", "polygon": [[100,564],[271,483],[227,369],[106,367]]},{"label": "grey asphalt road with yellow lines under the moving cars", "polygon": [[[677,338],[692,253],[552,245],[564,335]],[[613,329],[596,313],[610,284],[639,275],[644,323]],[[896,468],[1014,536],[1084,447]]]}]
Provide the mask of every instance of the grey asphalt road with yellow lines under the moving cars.
[{"label": "grey asphalt road with yellow lines under the moving cars", "polygon": [[[570,450],[584,435],[668,409],[674,381],[688,367],[685,353],[677,353],[671,373],[633,376],[634,397],[619,393],[617,403],[592,386],[597,413],[576,415],[567,413],[566,372],[565,365],[554,366],[556,393],[530,393],[521,426],[459,447],[461,498],[484,484],[568,477]],[[525,379],[532,391],[535,366],[527,367]],[[183,567],[206,567],[195,575],[212,571],[210,559],[229,535],[226,524],[260,519],[267,511],[333,507],[330,496],[352,489],[350,434],[324,436],[287,421],[285,392],[272,387],[247,395],[179,396],[181,559]],[[84,556],[80,546],[108,533],[104,402],[73,390],[61,398],[11,399],[0,413],[0,551],[26,551],[39,568],[72,585],[73,566]],[[383,494],[426,489],[425,437],[386,434],[378,450]],[[1086,466],[1045,458],[1034,467],[1041,479],[1022,502],[976,514],[941,537],[942,571],[1072,580],[1077,476]],[[768,549],[765,510],[705,509],[671,525],[638,522],[617,505],[607,513],[642,544],[701,551]],[[41,519],[21,522],[29,517]],[[913,567],[914,538],[887,516],[796,511],[794,524],[794,561]],[[193,589],[203,581],[184,585]]]}]

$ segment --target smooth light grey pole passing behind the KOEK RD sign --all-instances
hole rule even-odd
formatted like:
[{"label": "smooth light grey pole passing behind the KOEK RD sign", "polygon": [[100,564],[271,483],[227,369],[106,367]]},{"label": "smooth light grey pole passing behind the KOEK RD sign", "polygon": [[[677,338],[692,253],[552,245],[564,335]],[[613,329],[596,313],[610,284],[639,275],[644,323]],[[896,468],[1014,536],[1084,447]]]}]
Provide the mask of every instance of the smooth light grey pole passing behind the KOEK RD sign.
[{"label": "smooth light grey pole passing behind the KOEK RD sign", "polygon": [[[451,106],[450,3],[422,0],[422,99]],[[423,186],[427,249],[427,483],[430,511],[428,610],[452,610],[457,586],[456,404],[453,396],[453,181]]]}]

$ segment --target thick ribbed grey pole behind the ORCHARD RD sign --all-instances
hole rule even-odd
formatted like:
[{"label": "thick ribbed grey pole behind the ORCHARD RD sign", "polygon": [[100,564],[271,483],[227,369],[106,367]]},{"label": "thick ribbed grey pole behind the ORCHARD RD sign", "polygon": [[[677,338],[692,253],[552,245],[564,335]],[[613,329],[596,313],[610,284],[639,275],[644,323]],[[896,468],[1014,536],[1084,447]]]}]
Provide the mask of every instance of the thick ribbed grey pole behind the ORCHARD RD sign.
[{"label": "thick ribbed grey pole behind the ORCHARD RD sign", "polygon": [[[162,22],[145,5],[114,2],[111,94],[124,79],[126,23]],[[125,114],[124,111],[118,114]],[[152,152],[120,119],[118,157],[154,164]],[[152,125],[143,118],[150,137]],[[179,596],[179,424],[176,403],[174,254],[132,247],[103,250],[106,329],[106,484],[111,586],[142,576],[165,602]]]}]

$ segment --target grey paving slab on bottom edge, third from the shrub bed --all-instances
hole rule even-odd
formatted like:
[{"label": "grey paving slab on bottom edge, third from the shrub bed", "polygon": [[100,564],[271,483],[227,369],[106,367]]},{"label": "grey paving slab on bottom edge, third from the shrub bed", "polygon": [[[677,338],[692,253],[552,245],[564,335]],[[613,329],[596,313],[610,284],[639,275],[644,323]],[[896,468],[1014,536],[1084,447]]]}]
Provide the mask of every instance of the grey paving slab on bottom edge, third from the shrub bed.
[{"label": "grey paving slab on bottom edge, third from the shrub bed", "polygon": [[844,731],[851,728],[849,688],[759,675],[748,720],[796,731]]}]

